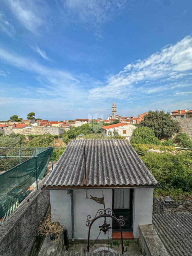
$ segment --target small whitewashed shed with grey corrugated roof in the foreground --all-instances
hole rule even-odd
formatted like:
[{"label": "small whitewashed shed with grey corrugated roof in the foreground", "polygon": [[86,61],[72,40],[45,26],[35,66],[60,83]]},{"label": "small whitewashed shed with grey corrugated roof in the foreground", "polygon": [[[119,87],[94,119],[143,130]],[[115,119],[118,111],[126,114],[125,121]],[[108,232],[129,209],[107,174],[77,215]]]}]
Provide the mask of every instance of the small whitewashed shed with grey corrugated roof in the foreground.
[{"label": "small whitewashed shed with grey corrugated roof in the foreground", "polygon": [[[84,164],[86,163],[86,164]],[[85,168],[86,167],[86,168]],[[87,215],[94,218],[100,208],[91,197],[104,195],[105,207],[125,220],[123,232],[139,236],[139,225],[152,224],[153,189],[161,187],[134,148],[125,139],[71,140],[43,185],[50,190],[51,212],[55,221],[67,227],[72,240],[87,239]],[[98,219],[91,228],[95,239]],[[109,238],[119,232],[115,221],[107,218]],[[102,232],[100,239],[107,239]]]}]

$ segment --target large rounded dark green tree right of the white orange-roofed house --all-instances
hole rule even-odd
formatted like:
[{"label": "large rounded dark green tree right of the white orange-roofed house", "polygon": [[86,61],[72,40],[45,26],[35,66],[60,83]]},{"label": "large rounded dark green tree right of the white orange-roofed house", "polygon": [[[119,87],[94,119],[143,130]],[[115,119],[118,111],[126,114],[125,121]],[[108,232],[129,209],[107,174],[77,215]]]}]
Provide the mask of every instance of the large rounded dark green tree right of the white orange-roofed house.
[{"label": "large rounded dark green tree right of the white orange-roofed house", "polygon": [[178,122],[173,120],[170,113],[165,113],[164,110],[150,110],[149,114],[145,115],[144,120],[140,122],[140,126],[149,127],[159,140],[165,137],[169,138],[180,130]]}]

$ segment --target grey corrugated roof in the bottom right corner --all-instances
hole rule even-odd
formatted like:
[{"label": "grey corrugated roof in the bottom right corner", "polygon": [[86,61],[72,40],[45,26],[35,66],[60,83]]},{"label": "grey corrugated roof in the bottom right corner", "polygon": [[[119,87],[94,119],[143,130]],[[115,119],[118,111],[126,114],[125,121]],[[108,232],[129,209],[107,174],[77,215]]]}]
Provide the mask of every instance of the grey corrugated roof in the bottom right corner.
[{"label": "grey corrugated roof in the bottom right corner", "polygon": [[171,256],[192,255],[192,214],[154,214],[152,224]]}]

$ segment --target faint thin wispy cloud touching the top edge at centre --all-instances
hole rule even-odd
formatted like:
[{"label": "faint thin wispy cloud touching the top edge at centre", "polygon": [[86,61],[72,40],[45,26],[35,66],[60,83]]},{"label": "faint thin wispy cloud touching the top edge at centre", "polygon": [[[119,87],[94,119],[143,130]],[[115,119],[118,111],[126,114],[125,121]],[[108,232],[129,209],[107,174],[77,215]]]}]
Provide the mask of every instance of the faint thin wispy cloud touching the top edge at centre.
[{"label": "faint thin wispy cloud touching the top edge at centre", "polygon": [[98,30],[117,15],[125,0],[58,0],[59,10],[64,18],[85,29]]}]

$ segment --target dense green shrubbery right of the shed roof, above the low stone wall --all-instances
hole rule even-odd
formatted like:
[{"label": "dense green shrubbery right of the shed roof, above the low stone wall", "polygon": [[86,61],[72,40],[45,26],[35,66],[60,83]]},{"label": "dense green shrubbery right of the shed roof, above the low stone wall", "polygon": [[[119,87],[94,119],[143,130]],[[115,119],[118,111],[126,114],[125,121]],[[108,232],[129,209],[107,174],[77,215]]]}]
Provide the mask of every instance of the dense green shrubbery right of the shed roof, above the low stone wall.
[{"label": "dense green shrubbery right of the shed roof, above the low stone wall", "polygon": [[184,199],[192,191],[192,152],[147,152],[141,159],[163,188],[155,189],[158,198],[169,195]]}]

